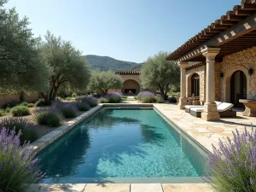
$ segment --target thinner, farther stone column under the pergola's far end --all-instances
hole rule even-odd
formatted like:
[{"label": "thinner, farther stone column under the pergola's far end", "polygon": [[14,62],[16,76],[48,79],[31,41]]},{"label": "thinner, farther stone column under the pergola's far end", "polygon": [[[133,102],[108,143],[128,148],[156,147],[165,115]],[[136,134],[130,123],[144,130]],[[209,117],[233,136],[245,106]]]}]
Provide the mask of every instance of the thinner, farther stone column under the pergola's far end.
[{"label": "thinner, farther stone column under the pergola's far end", "polygon": [[184,109],[187,104],[186,98],[186,67],[188,67],[189,62],[179,62],[177,64],[180,67],[180,98],[177,107]]}]

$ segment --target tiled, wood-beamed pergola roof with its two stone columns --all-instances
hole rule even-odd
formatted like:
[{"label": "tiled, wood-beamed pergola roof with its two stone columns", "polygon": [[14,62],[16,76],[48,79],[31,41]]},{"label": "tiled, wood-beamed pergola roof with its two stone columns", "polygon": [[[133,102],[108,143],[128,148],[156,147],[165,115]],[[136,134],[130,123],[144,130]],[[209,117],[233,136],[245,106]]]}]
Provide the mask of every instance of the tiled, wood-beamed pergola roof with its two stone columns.
[{"label": "tiled, wood-beamed pergola roof with its two stone columns", "polygon": [[[215,99],[215,62],[223,61],[225,55],[249,49],[256,45],[256,0],[242,0],[241,5],[215,20],[210,26],[177,48],[167,60],[176,61],[181,68],[181,97],[179,108],[186,103],[187,67],[207,64],[207,91],[202,119],[219,119]],[[189,65],[189,61],[198,61]]]}]

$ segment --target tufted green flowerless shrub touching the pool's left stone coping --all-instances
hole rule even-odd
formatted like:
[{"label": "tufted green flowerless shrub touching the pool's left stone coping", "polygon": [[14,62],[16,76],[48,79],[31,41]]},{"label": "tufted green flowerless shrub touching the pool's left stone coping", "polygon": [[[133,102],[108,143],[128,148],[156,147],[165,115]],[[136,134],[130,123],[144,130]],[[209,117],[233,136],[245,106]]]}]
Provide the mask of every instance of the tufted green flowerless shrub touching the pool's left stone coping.
[{"label": "tufted green flowerless shrub touching the pool's left stone coping", "polygon": [[38,125],[60,126],[61,119],[62,114],[56,108],[38,108],[35,110],[35,120]]}]

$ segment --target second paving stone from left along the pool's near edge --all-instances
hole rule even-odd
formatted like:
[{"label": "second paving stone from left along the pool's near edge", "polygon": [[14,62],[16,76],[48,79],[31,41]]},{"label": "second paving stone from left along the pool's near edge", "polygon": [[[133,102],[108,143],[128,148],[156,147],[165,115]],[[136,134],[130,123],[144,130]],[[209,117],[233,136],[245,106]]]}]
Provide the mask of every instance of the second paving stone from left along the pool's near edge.
[{"label": "second paving stone from left along the pool's near edge", "polygon": [[86,184],[84,192],[130,192],[129,183],[101,183],[101,184]]}]

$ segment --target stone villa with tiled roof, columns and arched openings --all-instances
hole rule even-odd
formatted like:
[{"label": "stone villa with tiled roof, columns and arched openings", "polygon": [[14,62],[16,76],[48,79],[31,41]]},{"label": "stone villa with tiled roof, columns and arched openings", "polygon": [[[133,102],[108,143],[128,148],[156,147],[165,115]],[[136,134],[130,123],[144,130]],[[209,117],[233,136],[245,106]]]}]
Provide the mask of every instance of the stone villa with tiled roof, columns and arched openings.
[{"label": "stone villa with tiled roof, columns and arched openings", "polygon": [[214,101],[239,107],[240,99],[255,99],[256,1],[242,0],[166,59],[181,68],[179,108],[198,96],[205,107],[202,119],[219,119]]}]

